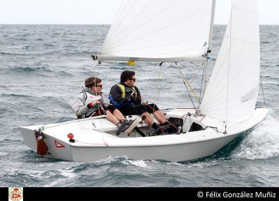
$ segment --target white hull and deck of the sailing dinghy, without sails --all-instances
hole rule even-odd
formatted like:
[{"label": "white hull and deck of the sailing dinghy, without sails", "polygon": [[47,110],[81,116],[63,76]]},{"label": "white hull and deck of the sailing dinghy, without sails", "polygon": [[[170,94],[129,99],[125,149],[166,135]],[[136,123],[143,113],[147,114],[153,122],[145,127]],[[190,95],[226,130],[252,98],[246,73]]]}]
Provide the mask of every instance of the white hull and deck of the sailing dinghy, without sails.
[{"label": "white hull and deck of the sailing dinghy, without sails", "polygon": [[[167,117],[182,117],[187,111],[176,109],[167,113]],[[106,119],[68,121],[45,125],[45,142],[49,149],[48,156],[66,161],[98,161],[116,156],[127,156],[135,160],[188,161],[211,156],[242,132],[262,121],[267,112],[264,108],[255,110],[255,114],[247,121],[228,126],[227,133],[224,133],[223,125],[216,119],[193,117],[191,121],[199,122],[204,130],[153,137],[116,137],[105,133],[116,129],[115,125]],[[206,126],[217,127],[218,132],[215,128]],[[33,151],[36,151],[33,130],[38,127],[40,126],[20,127],[24,142]],[[74,133],[76,142],[69,142],[68,133]]]}]

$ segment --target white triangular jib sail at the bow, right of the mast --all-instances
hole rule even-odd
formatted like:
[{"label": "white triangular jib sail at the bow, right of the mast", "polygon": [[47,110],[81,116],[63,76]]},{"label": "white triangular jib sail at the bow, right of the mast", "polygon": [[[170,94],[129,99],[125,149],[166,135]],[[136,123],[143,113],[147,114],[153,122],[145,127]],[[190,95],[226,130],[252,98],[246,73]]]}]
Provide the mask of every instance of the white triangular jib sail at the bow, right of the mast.
[{"label": "white triangular jib sail at the bow, right of the mast", "polygon": [[203,114],[240,122],[255,111],[259,88],[257,1],[235,0],[216,65],[202,100]]}]

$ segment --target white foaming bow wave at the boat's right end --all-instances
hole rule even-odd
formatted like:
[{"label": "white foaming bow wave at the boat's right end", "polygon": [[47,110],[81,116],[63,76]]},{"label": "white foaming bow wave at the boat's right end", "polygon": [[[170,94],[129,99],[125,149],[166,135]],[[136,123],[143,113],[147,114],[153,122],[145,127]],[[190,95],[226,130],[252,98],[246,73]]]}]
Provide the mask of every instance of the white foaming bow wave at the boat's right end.
[{"label": "white foaming bow wave at the boat's right end", "polygon": [[268,116],[241,142],[232,158],[250,160],[279,156],[279,121]]}]

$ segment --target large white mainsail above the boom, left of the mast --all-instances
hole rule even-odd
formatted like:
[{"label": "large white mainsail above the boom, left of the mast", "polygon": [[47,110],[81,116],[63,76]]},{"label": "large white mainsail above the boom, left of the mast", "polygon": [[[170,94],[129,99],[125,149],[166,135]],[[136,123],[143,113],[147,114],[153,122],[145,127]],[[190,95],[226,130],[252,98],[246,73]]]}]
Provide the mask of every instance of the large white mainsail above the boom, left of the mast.
[{"label": "large white mainsail above the boom, left of the mast", "polygon": [[100,56],[202,58],[209,44],[211,7],[209,0],[123,0]]}]

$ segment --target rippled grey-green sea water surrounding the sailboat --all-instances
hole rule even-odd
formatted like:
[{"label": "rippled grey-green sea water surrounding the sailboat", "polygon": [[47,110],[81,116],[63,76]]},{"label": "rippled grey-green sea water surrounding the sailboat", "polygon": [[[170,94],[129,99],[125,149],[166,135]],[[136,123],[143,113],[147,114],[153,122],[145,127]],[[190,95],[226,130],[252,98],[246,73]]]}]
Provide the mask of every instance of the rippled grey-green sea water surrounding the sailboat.
[{"label": "rippled grey-green sea water surrounding the sailboat", "polygon": [[[259,29],[269,114],[213,156],[181,163],[126,156],[75,163],[31,151],[19,126],[75,119],[71,105],[89,76],[103,80],[107,96],[121,71],[135,70],[144,100],[165,111],[192,107],[174,64],[91,61],[109,29],[109,25],[0,25],[0,186],[279,186],[279,26]],[[213,64],[224,33],[225,26],[215,27]],[[199,94],[201,66],[183,64],[181,70]],[[259,101],[264,98],[260,89]]]}]

